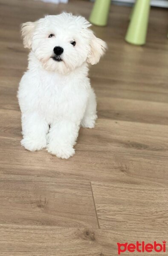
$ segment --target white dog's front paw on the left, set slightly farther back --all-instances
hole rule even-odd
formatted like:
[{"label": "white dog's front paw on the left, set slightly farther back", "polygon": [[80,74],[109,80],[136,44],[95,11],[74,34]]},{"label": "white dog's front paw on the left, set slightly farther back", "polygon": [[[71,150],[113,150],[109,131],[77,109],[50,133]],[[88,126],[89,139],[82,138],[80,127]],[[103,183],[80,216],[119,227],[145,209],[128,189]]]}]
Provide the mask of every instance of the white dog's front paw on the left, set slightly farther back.
[{"label": "white dog's front paw on the left, set slightly farther back", "polygon": [[24,137],[21,145],[29,151],[41,150],[46,147],[46,138],[35,140],[31,137]]}]

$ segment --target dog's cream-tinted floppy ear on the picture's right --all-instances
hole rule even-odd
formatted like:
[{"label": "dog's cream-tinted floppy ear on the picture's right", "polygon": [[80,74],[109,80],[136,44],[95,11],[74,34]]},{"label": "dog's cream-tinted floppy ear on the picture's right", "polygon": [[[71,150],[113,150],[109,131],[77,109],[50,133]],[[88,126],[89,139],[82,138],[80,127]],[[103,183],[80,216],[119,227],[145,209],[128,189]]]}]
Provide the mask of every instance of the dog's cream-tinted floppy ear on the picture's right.
[{"label": "dog's cream-tinted floppy ear on the picture's right", "polygon": [[90,41],[90,52],[87,57],[87,62],[92,65],[97,64],[106,49],[107,44],[100,38],[96,38],[96,36],[93,34]]}]

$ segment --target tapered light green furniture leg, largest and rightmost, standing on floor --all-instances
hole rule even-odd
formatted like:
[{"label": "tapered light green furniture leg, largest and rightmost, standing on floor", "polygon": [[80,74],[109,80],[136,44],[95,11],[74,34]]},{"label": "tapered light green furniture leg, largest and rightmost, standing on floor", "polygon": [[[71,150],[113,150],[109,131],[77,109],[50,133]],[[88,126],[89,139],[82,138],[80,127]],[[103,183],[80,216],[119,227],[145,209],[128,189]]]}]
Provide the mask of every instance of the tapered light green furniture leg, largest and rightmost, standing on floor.
[{"label": "tapered light green furniture leg, largest and rightmost, standing on floor", "polygon": [[136,0],[125,40],[130,44],[143,45],[146,42],[150,0]]}]

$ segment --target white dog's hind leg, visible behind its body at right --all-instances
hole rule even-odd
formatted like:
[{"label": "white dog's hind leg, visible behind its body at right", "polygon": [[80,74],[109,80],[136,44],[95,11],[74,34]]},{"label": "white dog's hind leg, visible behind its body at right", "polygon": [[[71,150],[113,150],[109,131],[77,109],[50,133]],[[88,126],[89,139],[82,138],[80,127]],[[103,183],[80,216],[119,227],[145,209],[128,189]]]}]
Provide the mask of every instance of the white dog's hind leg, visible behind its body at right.
[{"label": "white dog's hind leg, visible behind its body at right", "polygon": [[87,102],[86,111],[81,122],[81,126],[84,128],[94,128],[97,119],[96,115],[96,95],[94,90],[90,88],[89,98]]}]

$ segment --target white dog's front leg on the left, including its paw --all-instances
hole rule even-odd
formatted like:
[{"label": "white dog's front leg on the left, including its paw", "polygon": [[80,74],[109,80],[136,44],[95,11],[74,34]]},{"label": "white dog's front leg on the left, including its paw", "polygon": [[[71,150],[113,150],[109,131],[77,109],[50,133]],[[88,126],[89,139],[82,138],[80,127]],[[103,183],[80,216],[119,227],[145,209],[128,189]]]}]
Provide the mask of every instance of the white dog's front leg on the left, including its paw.
[{"label": "white dog's front leg on the left, including its paw", "polygon": [[40,150],[46,147],[46,134],[49,125],[40,114],[36,112],[22,113],[21,145],[30,151]]}]

